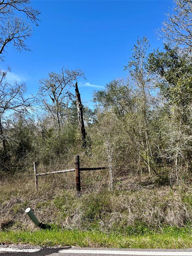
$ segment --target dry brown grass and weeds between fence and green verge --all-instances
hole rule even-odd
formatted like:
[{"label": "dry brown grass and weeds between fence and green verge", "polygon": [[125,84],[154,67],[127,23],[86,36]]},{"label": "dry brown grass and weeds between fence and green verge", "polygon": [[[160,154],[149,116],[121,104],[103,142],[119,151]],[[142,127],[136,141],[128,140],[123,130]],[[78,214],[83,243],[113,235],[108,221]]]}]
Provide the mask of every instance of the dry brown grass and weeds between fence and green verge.
[{"label": "dry brown grass and weeds between fence and green verge", "polygon": [[134,230],[140,224],[149,229],[182,227],[192,220],[192,188],[184,184],[171,188],[156,186],[153,177],[122,177],[111,193],[104,171],[84,172],[83,192],[77,197],[74,173],[43,176],[38,182],[36,192],[32,172],[0,181],[0,219],[13,219],[13,230],[34,229],[24,212],[27,207],[42,222],[105,232]]}]

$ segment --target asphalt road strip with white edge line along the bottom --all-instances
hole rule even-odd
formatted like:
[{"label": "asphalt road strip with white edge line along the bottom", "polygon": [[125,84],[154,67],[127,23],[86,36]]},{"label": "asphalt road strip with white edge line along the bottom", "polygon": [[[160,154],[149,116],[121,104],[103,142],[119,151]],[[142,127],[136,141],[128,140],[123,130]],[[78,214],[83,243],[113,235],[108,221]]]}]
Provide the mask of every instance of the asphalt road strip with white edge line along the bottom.
[{"label": "asphalt road strip with white edge line along the bottom", "polygon": [[35,246],[0,246],[0,256],[192,256],[192,249],[109,249],[109,248],[41,248]]}]

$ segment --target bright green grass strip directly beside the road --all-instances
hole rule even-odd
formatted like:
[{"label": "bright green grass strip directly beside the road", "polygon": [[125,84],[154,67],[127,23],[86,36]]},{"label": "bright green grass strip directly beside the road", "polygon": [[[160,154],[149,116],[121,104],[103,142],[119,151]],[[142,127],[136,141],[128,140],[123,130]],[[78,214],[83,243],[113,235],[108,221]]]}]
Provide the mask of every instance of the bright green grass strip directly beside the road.
[{"label": "bright green grass strip directly beside the road", "polygon": [[99,231],[7,231],[0,232],[0,243],[20,243],[40,246],[79,246],[113,248],[192,248],[190,233],[154,233],[146,235],[106,234]]}]

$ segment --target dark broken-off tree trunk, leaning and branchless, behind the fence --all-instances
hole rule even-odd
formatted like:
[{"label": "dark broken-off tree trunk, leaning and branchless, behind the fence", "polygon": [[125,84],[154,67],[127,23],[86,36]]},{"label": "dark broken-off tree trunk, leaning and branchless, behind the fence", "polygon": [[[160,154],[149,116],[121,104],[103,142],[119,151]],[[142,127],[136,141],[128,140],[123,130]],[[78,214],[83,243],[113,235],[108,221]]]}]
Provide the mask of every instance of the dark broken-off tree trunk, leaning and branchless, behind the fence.
[{"label": "dark broken-off tree trunk, leaning and branchless, behind the fence", "polygon": [[75,84],[75,97],[76,97],[76,103],[77,103],[77,117],[79,122],[79,129],[81,132],[81,138],[82,138],[82,147],[86,147],[86,131],[84,127],[84,121],[83,121],[83,108],[81,104],[81,97],[79,93],[79,89],[77,86],[77,82]]}]

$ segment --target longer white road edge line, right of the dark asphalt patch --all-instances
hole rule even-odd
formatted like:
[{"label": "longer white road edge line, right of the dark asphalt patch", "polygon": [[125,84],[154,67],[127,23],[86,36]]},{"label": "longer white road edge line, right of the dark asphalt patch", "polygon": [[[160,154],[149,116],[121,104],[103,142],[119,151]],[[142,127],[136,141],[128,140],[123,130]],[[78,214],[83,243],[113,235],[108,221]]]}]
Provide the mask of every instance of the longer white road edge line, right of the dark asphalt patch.
[{"label": "longer white road edge line, right of the dark asphalt patch", "polygon": [[109,250],[60,250],[58,253],[88,254],[121,254],[121,255],[159,255],[159,256],[192,256],[192,252],[165,251],[109,251]]}]

